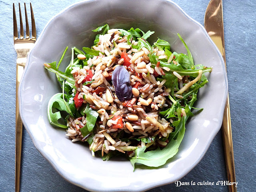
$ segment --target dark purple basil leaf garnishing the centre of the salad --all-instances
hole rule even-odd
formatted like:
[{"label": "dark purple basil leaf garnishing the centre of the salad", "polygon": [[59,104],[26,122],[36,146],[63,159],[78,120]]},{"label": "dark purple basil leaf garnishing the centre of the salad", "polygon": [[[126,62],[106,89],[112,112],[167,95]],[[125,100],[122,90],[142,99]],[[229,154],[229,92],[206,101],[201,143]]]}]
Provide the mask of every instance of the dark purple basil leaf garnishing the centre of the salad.
[{"label": "dark purple basil leaf garnishing the centre of the salad", "polygon": [[117,98],[124,102],[132,98],[132,86],[130,86],[130,74],[123,66],[117,66],[112,73],[112,83]]}]

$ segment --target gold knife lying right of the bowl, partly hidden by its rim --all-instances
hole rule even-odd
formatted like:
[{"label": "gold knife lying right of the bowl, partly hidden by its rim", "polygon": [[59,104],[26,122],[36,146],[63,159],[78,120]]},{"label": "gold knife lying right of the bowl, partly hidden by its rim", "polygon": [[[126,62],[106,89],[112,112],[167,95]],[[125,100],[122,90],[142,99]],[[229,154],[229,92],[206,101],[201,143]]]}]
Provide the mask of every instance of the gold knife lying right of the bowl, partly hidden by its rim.
[{"label": "gold knife lying right of the bowl, partly hidden by its rim", "polygon": [[[208,32],[209,36],[212,38],[212,41],[220,50],[226,66],[222,0],[210,0],[204,16],[204,27]],[[229,96],[227,98],[226,106],[224,109],[221,130],[228,180],[230,182],[236,182]],[[236,184],[229,185],[229,191],[236,192]]]}]

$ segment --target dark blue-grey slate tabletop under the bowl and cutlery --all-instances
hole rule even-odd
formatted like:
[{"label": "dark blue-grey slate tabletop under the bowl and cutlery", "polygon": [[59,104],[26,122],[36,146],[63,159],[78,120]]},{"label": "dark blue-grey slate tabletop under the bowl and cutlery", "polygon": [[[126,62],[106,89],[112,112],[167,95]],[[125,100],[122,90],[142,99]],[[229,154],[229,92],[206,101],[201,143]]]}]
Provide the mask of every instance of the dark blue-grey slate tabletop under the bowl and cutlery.
[{"label": "dark blue-grey slate tabletop under the bowl and cutlery", "polygon": [[[14,1],[16,5],[18,2]],[[52,16],[77,2],[69,0],[31,0],[40,32]],[[192,18],[204,24],[208,0],[174,0]],[[15,166],[15,78],[16,52],[13,47],[12,1],[0,1],[0,191],[14,191]],[[27,2],[29,3],[29,2]],[[256,67],[256,1],[223,2],[226,63],[228,71],[230,111],[239,192],[256,191],[255,134],[255,67]],[[16,6],[16,10],[18,7]],[[159,13],[160,14],[160,13]],[[23,16],[24,17],[24,16]],[[85,191],[64,180],[34,147],[23,131],[22,192]],[[227,180],[222,137],[219,132],[202,161],[181,182],[217,182]],[[129,189],[128,189],[129,190]],[[226,186],[180,186],[169,184],[149,190],[167,191],[228,191]]]}]

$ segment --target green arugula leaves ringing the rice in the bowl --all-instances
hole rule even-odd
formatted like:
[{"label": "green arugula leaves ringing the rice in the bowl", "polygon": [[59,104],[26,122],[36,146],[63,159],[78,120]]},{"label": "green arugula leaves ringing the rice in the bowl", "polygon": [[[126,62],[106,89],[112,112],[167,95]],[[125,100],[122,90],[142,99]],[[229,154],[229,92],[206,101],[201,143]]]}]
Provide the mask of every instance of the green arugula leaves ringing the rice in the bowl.
[{"label": "green arugula leaves ringing the rice in the bowl", "polygon": [[[92,30],[93,32],[98,32],[94,40],[94,46],[98,46],[99,36],[107,34],[108,30],[110,30],[108,24],[99,26],[95,30]],[[141,147],[140,144],[136,146],[120,146],[119,150],[130,152],[133,151],[135,153],[134,156],[129,157],[134,169],[138,164],[143,164],[149,167],[159,167],[164,165],[175,154],[177,154],[178,148],[182,142],[186,130],[186,121],[190,116],[194,116],[191,110],[202,110],[194,108],[193,104],[197,100],[198,90],[208,82],[208,79],[204,74],[207,72],[211,72],[212,68],[205,67],[202,64],[194,64],[192,54],[180,34],[177,34],[178,38],[180,38],[180,41],[185,46],[187,54],[172,52],[170,43],[160,38],[158,38],[156,42],[153,43],[153,45],[150,45],[147,40],[152,34],[154,34],[154,31],[149,30],[145,33],[139,28],[118,30],[120,31],[119,40],[121,38],[126,38],[127,44],[130,45],[132,49],[148,49],[148,58],[150,63],[152,64],[151,67],[156,68],[160,66],[163,70],[164,75],[159,75],[157,77],[157,81],[165,81],[164,86],[169,90],[168,94],[165,96],[166,101],[168,101],[169,104],[165,106],[162,105],[158,114],[161,116],[161,118],[171,118],[170,126],[173,128],[172,132],[168,133],[167,136],[160,136],[161,134],[150,136],[149,134],[144,138],[130,136],[127,137],[127,135],[126,137],[124,137],[124,130],[121,130],[120,132],[118,132],[116,138],[120,139],[123,142],[143,142],[145,146]],[[114,34],[112,34],[112,38],[113,36]],[[151,38],[153,38],[153,36]],[[137,44],[134,44],[134,42],[132,41],[136,41]],[[117,47],[117,43],[115,41],[113,42],[113,44],[114,46],[112,45],[112,49]],[[79,92],[76,90],[78,86],[71,72],[74,68],[82,69],[85,66],[88,66],[87,61],[90,58],[93,58],[94,56],[100,56],[101,54],[104,55],[104,53],[98,50],[94,50],[94,46],[92,46],[91,48],[83,47],[82,50],[76,47],[71,48],[72,59],[66,67],[65,72],[60,71],[59,67],[68,50],[68,47],[65,48],[64,53],[62,54],[58,64],[57,62],[44,64],[47,70],[56,74],[57,80],[58,82],[60,82],[60,87],[62,89],[62,93],[55,94],[49,100],[47,112],[50,124],[56,127],[66,129],[68,128],[67,119],[69,119],[70,117],[74,119],[82,119],[82,116],[85,116],[86,124],[84,127],[80,128],[80,131],[89,145],[93,143],[93,138],[98,132],[98,125],[95,126],[95,124],[99,114],[96,110],[91,108],[88,103],[82,104],[79,109],[75,107],[74,98],[76,97],[75,95]],[[160,57],[160,54],[157,54],[157,51],[164,52],[165,56]],[[86,56],[86,58],[84,60],[80,60],[78,58],[75,58],[76,54],[83,54]],[[180,76],[189,76],[190,81],[194,80],[194,84],[191,83],[192,85],[188,87],[188,89],[184,92],[180,92],[180,95],[177,95],[177,93],[179,91],[179,87],[181,87],[180,83],[183,84],[183,82],[180,82],[180,80],[178,80],[178,77],[175,75],[174,72],[178,73]],[[149,72],[147,76],[150,76]],[[195,82],[195,79],[199,80]],[[83,86],[89,86],[93,82],[94,80],[90,79],[89,81],[87,79],[85,82],[83,81]],[[83,95],[83,98],[84,100],[86,100],[85,95]],[[110,118],[113,118],[113,116],[110,116],[109,119]],[[165,147],[161,145],[156,145],[157,142],[166,142],[167,145]],[[105,146],[103,145],[103,147]],[[92,148],[92,151],[94,151],[94,148]],[[97,152],[100,154],[100,156],[102,156],[101,151]],[[104,154],[102,156],[102,159],[109,160],[112,156],[117,155],[121,155],[121,153],[117,150],[109,151],[108,154]]]}]

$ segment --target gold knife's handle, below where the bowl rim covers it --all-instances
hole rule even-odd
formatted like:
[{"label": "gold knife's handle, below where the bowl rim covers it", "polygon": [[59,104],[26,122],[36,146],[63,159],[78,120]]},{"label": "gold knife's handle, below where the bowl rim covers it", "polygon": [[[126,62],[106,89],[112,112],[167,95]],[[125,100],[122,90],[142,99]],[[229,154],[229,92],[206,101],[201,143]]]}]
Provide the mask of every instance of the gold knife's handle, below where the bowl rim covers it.
[{"label": "gold knife's handle, below where the bowl rim covers it", "polygon": [[[226,106],[224,109],[223,122],[222,122],[222,139],[223,147],[226,159],[226,168],[228,180],[230,182],[236,182],[235,175],[235,164],[234,164],[234,152],[233,152],[233,142],[232,142],[232,131],[231,131],[231,119],[230,119],[230,107],[229,107],[229,96],[226,101]],[[236,184],[229,185],[230,192],[236,192]]]}]

